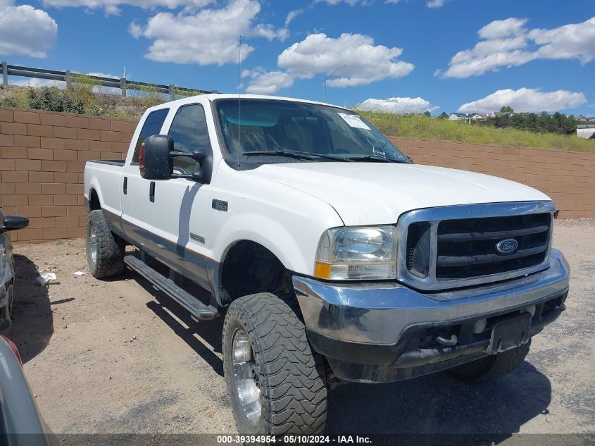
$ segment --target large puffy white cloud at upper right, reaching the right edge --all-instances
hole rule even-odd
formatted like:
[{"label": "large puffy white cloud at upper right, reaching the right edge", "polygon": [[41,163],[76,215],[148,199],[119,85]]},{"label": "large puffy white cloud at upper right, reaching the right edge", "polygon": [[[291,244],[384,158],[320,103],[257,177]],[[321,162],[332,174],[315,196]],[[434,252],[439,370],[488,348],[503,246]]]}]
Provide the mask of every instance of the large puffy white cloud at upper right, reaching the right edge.
[{"label": "large puffy white cloud at upper right, reaching the right edge", "polygon": [[588,63],[595,58],[595,17],[553,30],[527,30],[527,19],[494,20],[480,29],[480,42],[459,51],[446,71],[434,75],[468,78],[501,67],[520,66],[535,59],[572,59]]}]

